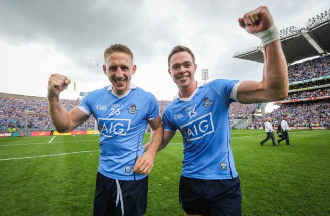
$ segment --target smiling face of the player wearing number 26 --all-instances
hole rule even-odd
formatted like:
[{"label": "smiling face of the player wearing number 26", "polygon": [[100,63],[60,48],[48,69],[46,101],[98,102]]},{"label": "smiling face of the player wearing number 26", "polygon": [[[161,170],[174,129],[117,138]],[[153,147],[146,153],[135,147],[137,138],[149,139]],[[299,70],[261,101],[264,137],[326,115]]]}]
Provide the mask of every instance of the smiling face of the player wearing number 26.
[{"label": "smiling face of the player wearing number 26", "polygon": [[129,89],[136,68],[133,59],[123,52],[113,52],[105,58],[103,72],[108,76],[115,94],[122,95]]}]

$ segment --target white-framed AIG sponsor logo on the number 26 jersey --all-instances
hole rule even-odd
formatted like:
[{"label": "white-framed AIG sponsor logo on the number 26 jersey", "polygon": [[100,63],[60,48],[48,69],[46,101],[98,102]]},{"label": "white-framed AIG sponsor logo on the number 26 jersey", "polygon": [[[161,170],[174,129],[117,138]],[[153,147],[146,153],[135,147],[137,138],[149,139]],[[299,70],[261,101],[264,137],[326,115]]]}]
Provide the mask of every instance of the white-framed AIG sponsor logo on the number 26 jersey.
[{"label": "white-framed AIG sponsor logo on the number 26 jersey", "polygon": [[130,120],[131,119],[98,118],[100,134],[106,137],[113,137],[116,135],[125,136],[127,131],[129,131]]}]

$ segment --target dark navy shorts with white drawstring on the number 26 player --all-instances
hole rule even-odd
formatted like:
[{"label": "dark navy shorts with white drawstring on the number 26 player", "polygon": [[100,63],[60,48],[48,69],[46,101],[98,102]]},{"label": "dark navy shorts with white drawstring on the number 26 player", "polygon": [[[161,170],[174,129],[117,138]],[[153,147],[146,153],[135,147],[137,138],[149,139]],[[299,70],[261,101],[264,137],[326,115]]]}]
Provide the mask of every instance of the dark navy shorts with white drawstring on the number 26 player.
[{"label": "dark navy shorts with white drawstring on the number 26 player", "polygon": [[148,176],[140,180],[123,181],[98,172],[93,215],[143,215],[147,210],[147,195]]}]

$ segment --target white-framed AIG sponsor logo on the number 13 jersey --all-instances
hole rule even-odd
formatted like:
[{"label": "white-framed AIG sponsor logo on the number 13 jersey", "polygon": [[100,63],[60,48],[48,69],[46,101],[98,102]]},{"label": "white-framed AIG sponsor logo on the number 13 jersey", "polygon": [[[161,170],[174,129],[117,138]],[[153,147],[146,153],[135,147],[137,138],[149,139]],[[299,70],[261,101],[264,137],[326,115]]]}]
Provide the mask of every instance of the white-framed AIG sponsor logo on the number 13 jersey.
[{"label": "white-framed AIG sponsor logo on the number 13 jersey", "polygon": [[187,141],[201,139],[203,136],[213,133],[214,126],[211,112],[181,126],[180,128],[185,133]]}]

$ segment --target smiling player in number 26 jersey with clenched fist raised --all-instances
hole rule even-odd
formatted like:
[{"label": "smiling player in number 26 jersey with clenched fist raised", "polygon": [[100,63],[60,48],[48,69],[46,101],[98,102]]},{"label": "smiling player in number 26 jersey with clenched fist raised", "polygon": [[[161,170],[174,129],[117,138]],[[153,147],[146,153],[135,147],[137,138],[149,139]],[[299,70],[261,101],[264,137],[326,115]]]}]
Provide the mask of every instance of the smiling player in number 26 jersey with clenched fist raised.
[{"label": "smiling player in number 26 jersey with clenched fist raised", "polygon": [[[141,216],[146,213],[148,174],[163,138],[158,101],[131,83],[136,72],[133,53],[122,44],[104,51],[103,72],[111,84],[90,92],[68,112],[59,94],[70,84],[67,77],[52,74],[48,103],[53,125],[67,133],[91,115],[98,121],[100,157],[94,196],[94,216]],[[150,146],[144,151],[143,136],[150,124]]]}]

